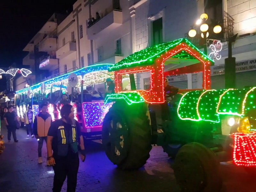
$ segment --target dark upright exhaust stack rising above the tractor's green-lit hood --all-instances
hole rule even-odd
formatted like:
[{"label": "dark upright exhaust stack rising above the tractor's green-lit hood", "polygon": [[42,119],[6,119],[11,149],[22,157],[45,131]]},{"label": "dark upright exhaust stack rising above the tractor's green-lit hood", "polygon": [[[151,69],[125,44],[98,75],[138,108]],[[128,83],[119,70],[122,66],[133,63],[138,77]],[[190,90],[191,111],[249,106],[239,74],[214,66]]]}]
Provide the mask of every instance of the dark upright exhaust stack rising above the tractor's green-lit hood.
[{"label": "dark upright exhaust stack rising above the tractor's green-lit hood", "polygon": [[236,88],[236,58],[232,57],[232,43],[238,34],[228,38],[228,58],[225,59],[225,89]]}]

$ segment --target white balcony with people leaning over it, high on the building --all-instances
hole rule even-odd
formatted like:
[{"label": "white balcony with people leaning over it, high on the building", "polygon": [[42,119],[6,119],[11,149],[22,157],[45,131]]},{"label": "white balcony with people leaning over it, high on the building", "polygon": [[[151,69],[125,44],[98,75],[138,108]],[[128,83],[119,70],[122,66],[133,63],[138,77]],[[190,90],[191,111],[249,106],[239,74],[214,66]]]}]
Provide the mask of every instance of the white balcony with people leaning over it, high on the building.
[{"label": "white balcony with people leaning over it, high on the building", "polygon": [[122,25],[122,23],[123,12],[120,10],[113,10],[87,28],[88,39],[94,40],[101,34],[111,33],[117,27]]}]

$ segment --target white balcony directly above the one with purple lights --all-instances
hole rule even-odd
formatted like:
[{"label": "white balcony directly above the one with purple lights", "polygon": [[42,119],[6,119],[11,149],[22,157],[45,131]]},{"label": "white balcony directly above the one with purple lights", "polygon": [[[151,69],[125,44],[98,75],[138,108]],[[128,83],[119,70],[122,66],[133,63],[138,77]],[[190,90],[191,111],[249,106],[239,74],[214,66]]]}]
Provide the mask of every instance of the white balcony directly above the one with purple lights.
[{"label": "white balcony directly above the one with purple lights", "polygon": [[50,52],[57,50],[57,36],[56,35],[45,35],[44,38],[39,42],[38,50],[40,52]]}]

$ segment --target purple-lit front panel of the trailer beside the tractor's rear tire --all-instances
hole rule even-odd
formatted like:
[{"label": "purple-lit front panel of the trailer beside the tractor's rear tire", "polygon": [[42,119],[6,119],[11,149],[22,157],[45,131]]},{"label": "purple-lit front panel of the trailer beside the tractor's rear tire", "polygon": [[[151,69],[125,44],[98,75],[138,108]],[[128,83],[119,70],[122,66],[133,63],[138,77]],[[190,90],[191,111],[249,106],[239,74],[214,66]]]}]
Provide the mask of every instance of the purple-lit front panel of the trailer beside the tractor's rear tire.
[{"label": "purple-lit front panel of the trailer beside the tractor's rear tire", "polygon": [[83,117],[85,127],[101,127],[104,117],[112,105],[113,102],[107,104],[104,104],[104,102],[84,102]]}]

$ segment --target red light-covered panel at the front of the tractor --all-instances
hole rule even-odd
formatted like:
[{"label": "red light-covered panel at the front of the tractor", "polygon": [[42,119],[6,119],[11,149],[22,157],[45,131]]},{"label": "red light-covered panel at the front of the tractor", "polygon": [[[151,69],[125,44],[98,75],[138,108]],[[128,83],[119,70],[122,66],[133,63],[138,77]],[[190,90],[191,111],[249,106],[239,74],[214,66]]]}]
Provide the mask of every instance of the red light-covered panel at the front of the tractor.
[{"label": "red light-covered panel at the front of the tractor", "polygon": [[234,133],[233,160],[236,165],[256,166],[256,132]]}]

